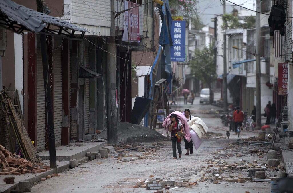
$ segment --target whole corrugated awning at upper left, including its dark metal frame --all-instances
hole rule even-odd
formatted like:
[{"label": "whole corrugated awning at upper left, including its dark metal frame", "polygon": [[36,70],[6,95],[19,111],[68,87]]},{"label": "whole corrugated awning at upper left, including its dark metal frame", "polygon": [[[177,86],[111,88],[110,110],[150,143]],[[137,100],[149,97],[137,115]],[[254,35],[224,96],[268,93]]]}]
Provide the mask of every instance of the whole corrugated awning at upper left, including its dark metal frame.
[{"label": "whole corrugated awning at upper left, including its dark metal frame", "polygon": [[0,26],[16,33],[28,30],[35,33],[64,35],[70,38],[76,37],[74,36],[75,31],[81,32],[78,38],[83,38],[84,33],[88,31],[70,24],[68,21],[16,4],[11,0],[0,1]]}]

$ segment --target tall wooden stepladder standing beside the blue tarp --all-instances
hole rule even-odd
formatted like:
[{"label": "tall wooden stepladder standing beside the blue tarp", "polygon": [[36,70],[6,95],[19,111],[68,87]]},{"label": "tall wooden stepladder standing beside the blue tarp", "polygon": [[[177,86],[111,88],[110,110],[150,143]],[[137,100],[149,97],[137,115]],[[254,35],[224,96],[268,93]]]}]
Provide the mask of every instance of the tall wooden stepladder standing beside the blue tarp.
[{"label": "tall wooden stepladder standing beside the blue tarp", "polygon": [[[151,123],[150,123],[150,128],[153,130],[156,130],[157,125],[159,126],[159,128],[162,128],[163,122],[157,122],[158,115],[163,115],[165,119],[166,115],[170,114],[166,80],[167,79],[162,78],[161,80],[155,83],[154,95],[153,95],[154,98],[151,101]],[[163,112],[159,113],[159,109],[161,109]],[[168,133],[167,133],[167,137],[168,137]]]}]

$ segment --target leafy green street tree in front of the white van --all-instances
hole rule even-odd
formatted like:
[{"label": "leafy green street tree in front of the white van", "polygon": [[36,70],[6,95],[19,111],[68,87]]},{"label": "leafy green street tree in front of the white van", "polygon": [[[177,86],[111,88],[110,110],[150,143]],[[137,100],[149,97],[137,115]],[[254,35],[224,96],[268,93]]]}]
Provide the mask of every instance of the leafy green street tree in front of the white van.
[{"label": "leafy green street tree in front of the white van", "polygon": [[[214,45],[209,48],[195,49],[195,59],[190,61],[190,70],[193,77],[201,80],[209,87],[211,93],[212,83],[217,80],[216,66],[214,64],[214,53],[212,52]],[[212,95],[210,95],[209,102],[212,103]]]}]

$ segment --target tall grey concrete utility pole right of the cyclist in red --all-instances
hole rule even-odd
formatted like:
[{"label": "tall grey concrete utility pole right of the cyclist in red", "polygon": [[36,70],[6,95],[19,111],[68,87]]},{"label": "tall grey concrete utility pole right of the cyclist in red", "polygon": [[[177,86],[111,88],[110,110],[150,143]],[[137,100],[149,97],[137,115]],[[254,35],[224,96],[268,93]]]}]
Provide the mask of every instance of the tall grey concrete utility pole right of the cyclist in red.
[{"label": "tall grey concrete utility pole right of the cyclist in red", "polygon": [[[260,0],[256,0],[256,11],[260,12]],[[256,127],[261,127],[261,98],[260,98],[260,13],[255,18],[256,36]]]}]

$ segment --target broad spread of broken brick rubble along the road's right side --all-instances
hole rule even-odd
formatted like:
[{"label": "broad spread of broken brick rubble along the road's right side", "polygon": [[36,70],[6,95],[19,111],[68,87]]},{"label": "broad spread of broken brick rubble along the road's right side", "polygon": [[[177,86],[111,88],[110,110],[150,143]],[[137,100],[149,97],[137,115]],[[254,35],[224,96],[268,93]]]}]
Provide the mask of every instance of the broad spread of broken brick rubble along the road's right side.
[{"label": "broad spread of broken brick rubble along the road's right side", "polygon": [[270,159],[267,162],[260,163],[257,160],[248,161],[244,159],[239,159],[234,163],[228,162],[232,157],[243,157],[248,154],[255,154],[262,158],[267,152],[267,150],[259,150],[255,147],[248,148],[237,144],[229,144],[229,147],[214,152],[214,159],[206,160],[207,165],[202,166],[199,181],[214,184],[221,181],[244,183],[251,181],[253,177],[265,179],[265,172],[270,172],[270,177],[276,177],[278,171],[284,170],[277,161],[275,165],[268,164],[273,162],[269,161]]}]

